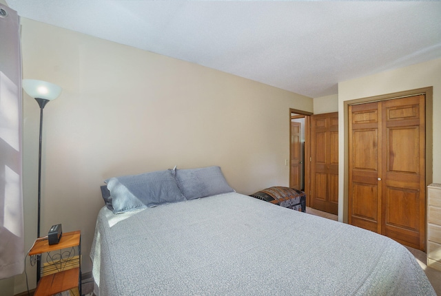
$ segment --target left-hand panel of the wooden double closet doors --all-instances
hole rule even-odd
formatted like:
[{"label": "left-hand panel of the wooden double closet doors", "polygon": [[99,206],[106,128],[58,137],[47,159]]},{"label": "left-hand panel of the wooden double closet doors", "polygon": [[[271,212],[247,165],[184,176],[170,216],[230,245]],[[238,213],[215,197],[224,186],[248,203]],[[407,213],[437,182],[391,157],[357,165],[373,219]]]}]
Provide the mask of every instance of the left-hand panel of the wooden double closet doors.
[{"label": "left-hand panel of the wooden double closet doors", "polygon": [[381,233],[381,108],[349,106],[349,224]]}]

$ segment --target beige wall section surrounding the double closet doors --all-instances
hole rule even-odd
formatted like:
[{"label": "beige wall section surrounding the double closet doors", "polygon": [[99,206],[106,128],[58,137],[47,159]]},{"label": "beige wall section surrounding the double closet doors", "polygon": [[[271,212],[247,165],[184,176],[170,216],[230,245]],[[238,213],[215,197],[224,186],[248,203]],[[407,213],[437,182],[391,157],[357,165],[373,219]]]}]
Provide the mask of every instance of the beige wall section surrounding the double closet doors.
[{"label": "beige wall section surrounding the double closet doors", "polygon": [[[422,87],[433,87],[433,182],[441,182],[441,59],[411,65],[397,70],[345,81],[338,84],[339,147],[345,147],[344,103]],[[345,150],[339,149],[338,218],[343,219]]]}]

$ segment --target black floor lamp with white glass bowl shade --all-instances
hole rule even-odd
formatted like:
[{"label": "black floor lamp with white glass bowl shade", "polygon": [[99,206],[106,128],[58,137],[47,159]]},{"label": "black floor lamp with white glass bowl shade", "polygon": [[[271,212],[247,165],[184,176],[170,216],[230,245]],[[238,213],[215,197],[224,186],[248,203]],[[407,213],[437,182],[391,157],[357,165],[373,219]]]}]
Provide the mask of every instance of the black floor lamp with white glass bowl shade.
[{"label": "black floor lamp with white glass bowl shade", "polygon": [[[40,140],[39,140],[39,190],[38,190],[38,222],[37,222],[37,237],[40,237],[40,204],[41,204],[41,131],[43,129],[43,108],[61,94],[61,87],[46,81],[39,81],[34,79],[23,79],[23,89],[26,94],[35,98],[35,101],[40,106]],[[37,260],[37,282],[40,279],[41,258]]]}]

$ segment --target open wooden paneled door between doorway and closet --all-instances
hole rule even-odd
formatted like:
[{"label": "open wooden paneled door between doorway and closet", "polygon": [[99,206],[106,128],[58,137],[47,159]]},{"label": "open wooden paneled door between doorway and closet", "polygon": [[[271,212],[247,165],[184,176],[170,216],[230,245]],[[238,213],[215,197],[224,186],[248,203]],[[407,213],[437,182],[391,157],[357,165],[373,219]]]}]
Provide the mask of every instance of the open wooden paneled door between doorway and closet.
[{"label": "open wooden paneled door between doorway and closet", "polygon": [[311,116],[310,207],[338,215],[338,112]]}]

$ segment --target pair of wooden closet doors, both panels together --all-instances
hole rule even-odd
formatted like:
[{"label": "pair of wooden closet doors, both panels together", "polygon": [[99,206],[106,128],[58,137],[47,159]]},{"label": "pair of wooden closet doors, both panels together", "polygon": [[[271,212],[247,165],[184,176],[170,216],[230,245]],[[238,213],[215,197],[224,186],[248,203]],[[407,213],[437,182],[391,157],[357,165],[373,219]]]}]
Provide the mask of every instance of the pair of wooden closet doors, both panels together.
[{"label": "pair of wooden closet doors, both panels together", "polygon": [[424,95],[349,106],[349,224],[425,248]]}]

